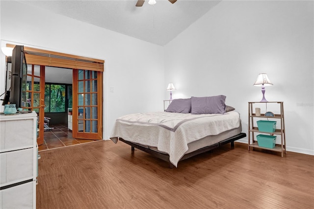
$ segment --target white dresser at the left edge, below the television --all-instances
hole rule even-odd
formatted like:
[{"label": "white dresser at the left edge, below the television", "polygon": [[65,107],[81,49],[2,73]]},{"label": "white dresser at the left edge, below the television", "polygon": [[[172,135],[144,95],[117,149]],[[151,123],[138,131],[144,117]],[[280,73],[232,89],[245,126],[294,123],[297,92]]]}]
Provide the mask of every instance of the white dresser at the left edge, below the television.
[{"label": "white dresser at the left edge, below the television", "polygon": [[0,114],[0,209],[36,209],[37,114]]}]

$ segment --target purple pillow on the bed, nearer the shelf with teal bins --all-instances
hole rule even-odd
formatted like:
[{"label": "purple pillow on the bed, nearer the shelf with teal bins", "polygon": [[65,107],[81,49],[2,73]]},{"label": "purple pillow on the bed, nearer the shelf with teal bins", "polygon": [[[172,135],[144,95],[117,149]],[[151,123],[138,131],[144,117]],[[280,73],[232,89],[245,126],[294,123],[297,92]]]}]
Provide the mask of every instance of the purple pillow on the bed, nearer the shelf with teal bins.
[{"label": "purple pillow on the bed, nearer the shelf with teal bins", "polygon": [[226,96],[192,97],[192,114],[224,114],[226,112]]}]

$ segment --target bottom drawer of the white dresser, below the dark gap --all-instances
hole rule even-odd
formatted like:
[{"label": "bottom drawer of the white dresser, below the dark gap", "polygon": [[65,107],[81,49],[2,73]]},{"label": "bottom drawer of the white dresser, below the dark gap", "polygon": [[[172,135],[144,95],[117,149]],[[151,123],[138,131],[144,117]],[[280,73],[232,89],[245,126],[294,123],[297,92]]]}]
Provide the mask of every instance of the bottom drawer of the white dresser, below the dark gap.
[{"label": "bottom drawer of the white dresser, below the dark gap", "polygon": [[36,183],[28,182],[0,191],[1,209],[32,209],[35,208],[34,191]]}]

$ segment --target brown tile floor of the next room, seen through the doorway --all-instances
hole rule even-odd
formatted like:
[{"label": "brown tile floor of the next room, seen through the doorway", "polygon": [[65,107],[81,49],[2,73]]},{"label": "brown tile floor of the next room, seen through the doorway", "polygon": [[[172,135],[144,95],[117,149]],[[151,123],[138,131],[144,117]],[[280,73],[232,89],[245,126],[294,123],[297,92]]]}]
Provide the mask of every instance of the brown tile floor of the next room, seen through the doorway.
[{"label": "brown tile floor of the next room, seen through the doorway", "polygon": [[68,130],[66,125],[50,125],[50,127],[53,129],[44,131],[44,144],[38,146],[39,152],[94,141],[72,138],[72,131]]}]

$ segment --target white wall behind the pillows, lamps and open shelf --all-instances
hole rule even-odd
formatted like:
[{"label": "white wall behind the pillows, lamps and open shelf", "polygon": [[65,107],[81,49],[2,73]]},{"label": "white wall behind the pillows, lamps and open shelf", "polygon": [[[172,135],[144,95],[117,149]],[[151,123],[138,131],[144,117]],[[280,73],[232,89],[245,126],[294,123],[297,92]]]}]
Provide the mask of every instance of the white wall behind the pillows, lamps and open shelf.
[{"label": "white wall behind the pillows, lamps and open shelf", "polygon": [[253,83],[267,73],[274,85],[266,87],[266,99],[284,102],[287,150],[314,155],[313,3],[217,4],[165,46],[165,83],[176,86],[173,98],[224,94],[247,133],[248,102],[262,99]]}]

